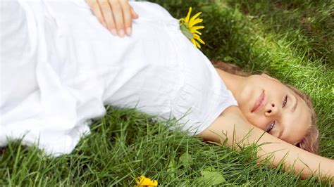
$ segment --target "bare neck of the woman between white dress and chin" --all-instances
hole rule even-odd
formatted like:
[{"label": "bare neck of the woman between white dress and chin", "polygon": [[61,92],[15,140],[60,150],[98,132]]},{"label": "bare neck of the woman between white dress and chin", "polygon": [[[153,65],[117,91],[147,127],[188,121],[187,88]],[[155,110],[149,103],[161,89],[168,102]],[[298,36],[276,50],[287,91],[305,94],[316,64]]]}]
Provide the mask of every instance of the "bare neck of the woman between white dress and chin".
[{"label": "bare neck of the woman between white dress and chin", "polygon": [[247,77],[233,75],[217,68],[216,71],[218,72],[218,75],[221,77],[221,79],[223,79],[226,87],[233,93],[233,96],[235,97],[235,100],[237,100],[237,103],[239,103],[242,95],[242,88],[244,87]]}]

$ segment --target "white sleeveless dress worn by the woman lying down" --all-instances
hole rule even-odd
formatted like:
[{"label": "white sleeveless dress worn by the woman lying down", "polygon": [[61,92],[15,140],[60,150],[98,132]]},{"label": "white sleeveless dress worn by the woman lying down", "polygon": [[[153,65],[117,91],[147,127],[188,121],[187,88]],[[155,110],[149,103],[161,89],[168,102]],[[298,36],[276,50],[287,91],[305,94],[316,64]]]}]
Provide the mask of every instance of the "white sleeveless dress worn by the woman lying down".
[{"label": "white sleeveless dress worn by the woman lying down", "polygon": [[105,105],[137,108],[199,134],[235,98],[157,4],[132,2],[131,37],[113,37],[80,1],[1,1],[0,146],[23,138],[70,153]]}]

